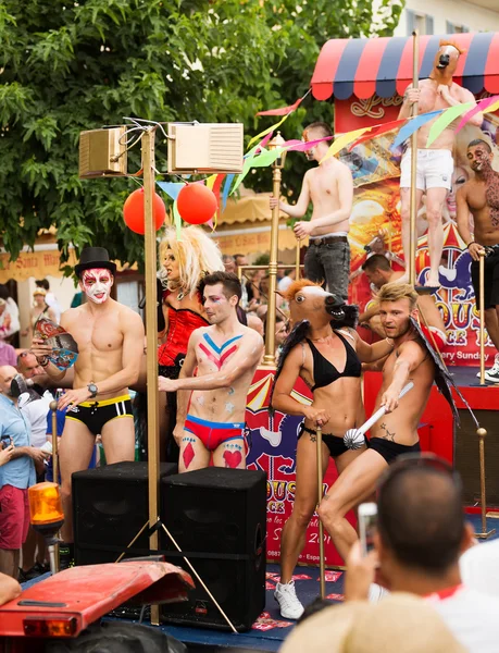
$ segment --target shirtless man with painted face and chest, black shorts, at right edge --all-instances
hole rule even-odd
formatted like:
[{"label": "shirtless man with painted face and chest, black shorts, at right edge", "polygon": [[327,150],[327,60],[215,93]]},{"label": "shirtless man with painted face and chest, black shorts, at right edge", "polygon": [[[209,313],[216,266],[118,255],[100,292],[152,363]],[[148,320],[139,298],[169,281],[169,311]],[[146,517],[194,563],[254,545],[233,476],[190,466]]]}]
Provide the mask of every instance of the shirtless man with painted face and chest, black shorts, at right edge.
[{"label": "shirtless man with painted face and chest, black shorts, at right edge", "polygon": [[[499,350],[499,173],[492,170],[492,151],[488,143],[475,139],[467,146],[467,160],[475,178],[466,182],[457,196],[458,230],[466,244],[472,262],[472,282],[479,308],[479,251],[485,249],[485,325]],[[469,213],[475,233],[470,232]],[[487,381],[499,382],[499,354],[494,367],[485,372]]]}]

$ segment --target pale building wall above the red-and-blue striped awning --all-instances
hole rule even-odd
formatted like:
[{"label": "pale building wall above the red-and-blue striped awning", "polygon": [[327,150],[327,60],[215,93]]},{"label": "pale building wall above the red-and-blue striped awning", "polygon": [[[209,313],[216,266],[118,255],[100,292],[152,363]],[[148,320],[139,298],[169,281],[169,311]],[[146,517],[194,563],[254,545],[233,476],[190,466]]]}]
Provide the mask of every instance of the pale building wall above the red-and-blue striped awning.
[{"label": "pale building wall above the red-and-blue striped awning", "polygon": [[414,26],[420,34],[453,34],[456,32],[499,32],[497,11],[490,11],[463,0],[407,0],[395,36],[409,36]]}]

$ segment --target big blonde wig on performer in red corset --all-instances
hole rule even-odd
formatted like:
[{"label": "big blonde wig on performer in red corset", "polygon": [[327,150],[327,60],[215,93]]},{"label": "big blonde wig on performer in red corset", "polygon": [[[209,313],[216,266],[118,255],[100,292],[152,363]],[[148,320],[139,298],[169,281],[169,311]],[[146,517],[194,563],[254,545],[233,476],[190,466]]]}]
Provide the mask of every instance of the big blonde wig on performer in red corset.
[{"label": "big blonde wig on performer in red corset", "polygon": [[[161,266],[167,249],[173,251],[175,260],[178,261],[180,288],[185,295],[192,297],[199,282],[207,274],[225,270],[219,246],[200,226],[191,225],[182,229],[179,239],[174,226],[166,227],[164,238],[160,244]],[[169,287],[163,266],[160,278]]]}]

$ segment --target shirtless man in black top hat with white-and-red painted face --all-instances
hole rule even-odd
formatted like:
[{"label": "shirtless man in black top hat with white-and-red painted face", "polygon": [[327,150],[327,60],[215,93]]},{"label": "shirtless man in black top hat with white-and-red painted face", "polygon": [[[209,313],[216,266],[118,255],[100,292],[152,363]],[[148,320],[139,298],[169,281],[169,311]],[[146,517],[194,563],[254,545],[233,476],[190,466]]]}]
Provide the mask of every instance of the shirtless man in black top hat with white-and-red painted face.
[{"label": "shirtless man in black top hat with white-and-red painted face", "polygon": [[[116,266],[103,247],[85,248],[75,273],[88,301],[61,317],[61,326],[71,333],[79,349],[74,387],[60,398],[58,406],[60,410],[67,408],[60,448],[64,507],[61,566],[71,564],[73,558],[71,477],[88,468],[96,435],[102,435],[109,464],[135,457],[128,385],[138,379],[144,325],[136,312],[110,297],[115,271]],[[64,371],[49,362],[50,347],[42,340],[33,341],[32,352],[51,379],[59,381],[64,377]]]}]

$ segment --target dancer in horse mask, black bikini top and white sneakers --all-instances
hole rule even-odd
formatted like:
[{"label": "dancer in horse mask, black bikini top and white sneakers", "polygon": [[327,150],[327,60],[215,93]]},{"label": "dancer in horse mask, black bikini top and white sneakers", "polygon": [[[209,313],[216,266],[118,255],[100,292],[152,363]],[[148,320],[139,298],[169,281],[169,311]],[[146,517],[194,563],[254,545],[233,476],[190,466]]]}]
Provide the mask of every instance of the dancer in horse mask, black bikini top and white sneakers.
[{"label": "dancer in horse mask, black bikini top and white sneakers", "polygon": [[[280,581],[275,597],[280,614],[298,619],[303,613],[292,574],[304,546],[307,527],[317,504],[316,428],[323,433],[323,475],[329,456],[338,475],[365,451],[365,445],[352,449],[344,435],[363,423],[361,396],[361,362],[371,362],[392,350],[386,341],[369,345],[351,328],[333,322],[330,295],[310,281],[290,285],[285,294],[289,300],[291,320],[298,324],[286,341],[276,373],[272,406],[288,415],[303,416],[297,445],[297,477],[292,514],[286,521],[280,540]],[[337,307],[345,310],[357,307]],[[341,311],[342,312],[342,311]],[[345,320],[348,323],[348,320]],[[351,320],[354,323],[354,319]],[[302,326],[300,326],[300,324]],[[301,336],[298,335],[301,332]],[[300,377],[311,389],[313,403],[307,406],[292,396]]]}]

